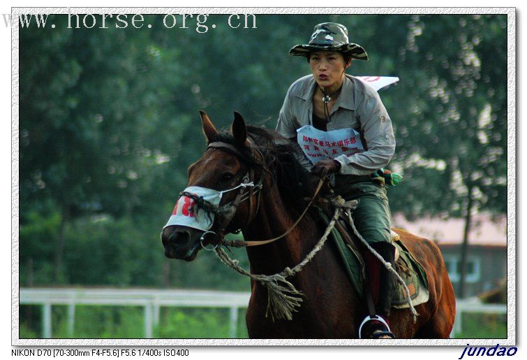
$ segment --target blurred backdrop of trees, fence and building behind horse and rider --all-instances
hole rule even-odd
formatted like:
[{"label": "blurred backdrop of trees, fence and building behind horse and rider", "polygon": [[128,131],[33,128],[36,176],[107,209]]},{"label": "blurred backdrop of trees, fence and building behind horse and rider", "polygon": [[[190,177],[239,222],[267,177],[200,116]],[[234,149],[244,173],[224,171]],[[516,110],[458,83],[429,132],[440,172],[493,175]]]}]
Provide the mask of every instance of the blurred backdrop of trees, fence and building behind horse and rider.
[{"label": "blurred backdrop of trees, fence and building behind horse and rider", "polygon": [[405,178],[389,201],[394,226],[445,255],[452,336],[506,338],[506,15],[95,16],[20,28],[20,338],[247,336],[248,280],[211,252],[166,259],[159,233],[205,150],[198,110],[274,128],[310,73],[288,50],[328,21],[369,54],[348,73],[401,79],[380,90]]}]

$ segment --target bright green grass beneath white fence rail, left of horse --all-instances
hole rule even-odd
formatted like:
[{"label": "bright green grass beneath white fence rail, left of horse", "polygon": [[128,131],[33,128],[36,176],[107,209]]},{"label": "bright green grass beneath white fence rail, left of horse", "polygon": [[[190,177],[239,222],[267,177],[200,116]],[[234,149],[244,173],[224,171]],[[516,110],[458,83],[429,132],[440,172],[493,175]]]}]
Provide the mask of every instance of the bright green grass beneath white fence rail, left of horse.
[{"label": "bright green grass beneath white fence rail, left of horse", "polygon": [[[52,307],[53,338],[144,338],[144,309],[133,306],[75,306],[73,334],[66,306]],[[42,336],[38,306],[20,308],[20,338]],[[230,338],[230,309],[161,308],[154,338]],[[237,338],[247,338],[245,309],[238,309]]]}]

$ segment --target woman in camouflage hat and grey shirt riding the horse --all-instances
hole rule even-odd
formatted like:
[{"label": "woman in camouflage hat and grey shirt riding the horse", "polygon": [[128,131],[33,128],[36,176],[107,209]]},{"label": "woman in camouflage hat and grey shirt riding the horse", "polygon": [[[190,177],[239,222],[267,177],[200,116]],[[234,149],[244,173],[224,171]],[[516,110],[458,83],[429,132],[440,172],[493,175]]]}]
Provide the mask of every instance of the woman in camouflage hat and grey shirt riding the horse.
[{"label": "woman in camouflage hat and grey shirt riding the horse", "polygon": [[[321,177],[329,175],[336,194],[346,200],[359,200],[353,212],[359,233],[385,261],[393,264],[394,247],[386,189],[383,183],[372,180],[377,174],[383,175],[382,170],[378,171],[394,154],[392,121],[376,90],[345,73],[352,59],[368,60],[368,55],[360,45],[348,41],[346,27],[334,22],[316,25],[309,44],[296,45],[289,54],[306,57],[312,75],[304,76],[290,86],[276,130],[292,141],[298,139],[306,155],[305,166]],[[310,144],[302,139],[318,138],[318,131],[339,131],[340,138],[356,138],[357,146],[351,150],[331,147],[331,151],[322,153],[316,148],[325,156],[314,157],[312,147],[324,143]],[[385,322],[367,317],[360,336],[394,338],[388,324],[392,275],[369,252],[366,254],[366,271],[373,298],[377,298],[377,315]]]}]

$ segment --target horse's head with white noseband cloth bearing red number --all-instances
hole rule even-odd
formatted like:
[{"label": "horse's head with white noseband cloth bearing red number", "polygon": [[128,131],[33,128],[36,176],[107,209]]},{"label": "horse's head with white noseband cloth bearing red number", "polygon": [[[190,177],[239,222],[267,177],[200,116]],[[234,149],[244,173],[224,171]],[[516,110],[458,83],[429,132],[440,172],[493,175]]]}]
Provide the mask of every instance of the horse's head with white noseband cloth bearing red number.
[{"label": "horse's head with white noseband cloth bearing red number", "polygon": [[165,256],[192,261],[223,233],[242,229],[258,211],[262,157],[247,141],[242,115],[235,113],[231,134],[218,134],[200,111],[208,147],[188,168],[188,183],[161,233]]}]

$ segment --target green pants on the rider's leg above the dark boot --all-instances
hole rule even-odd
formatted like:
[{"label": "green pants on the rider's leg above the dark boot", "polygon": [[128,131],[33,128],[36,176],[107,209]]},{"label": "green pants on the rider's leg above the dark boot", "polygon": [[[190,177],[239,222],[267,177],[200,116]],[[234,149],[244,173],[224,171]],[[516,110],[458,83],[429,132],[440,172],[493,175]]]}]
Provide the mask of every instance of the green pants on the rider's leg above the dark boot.
[{"label": "green pants on the rider's leg above the dark boot", "polygon": [[357,208],[352,210],[352,217],[362,237],[369,244],[392,243],[390,233],[392,215],[389,211],[385,185],[377,185],[371,180],[353,183],[343,178],[339,179],[341,181],[336,180],[335,193],[346,201],[359,201]]}]

